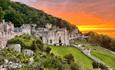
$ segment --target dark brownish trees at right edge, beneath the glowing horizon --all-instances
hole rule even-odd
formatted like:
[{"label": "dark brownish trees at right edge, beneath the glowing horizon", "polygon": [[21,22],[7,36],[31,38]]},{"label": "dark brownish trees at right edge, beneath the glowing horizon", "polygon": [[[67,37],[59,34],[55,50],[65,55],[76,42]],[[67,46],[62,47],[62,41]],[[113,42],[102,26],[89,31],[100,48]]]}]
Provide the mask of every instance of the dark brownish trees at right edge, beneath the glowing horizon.
[{"label": "dark brownish trees at right edge, beneath the glowing horizon", "polygon": [[87,39],[89,43],[115,51],[115,40],[109,36],[97,34],[95,32],[88,32],[85,35],[89,36]]}]

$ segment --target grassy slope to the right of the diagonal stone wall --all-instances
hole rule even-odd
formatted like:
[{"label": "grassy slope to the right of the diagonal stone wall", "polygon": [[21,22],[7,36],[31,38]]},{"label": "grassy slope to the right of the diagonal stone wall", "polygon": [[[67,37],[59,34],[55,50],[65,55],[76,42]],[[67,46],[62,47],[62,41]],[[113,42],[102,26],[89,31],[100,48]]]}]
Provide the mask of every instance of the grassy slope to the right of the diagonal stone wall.
[{"label": "grassy slope to the right of the diagonal stone wall", "polygon": [[76,40],[76,44],[84,44],[85,49],[91,49],[91,54],[115,70],[115,53],[100,46],[94,46],[85,40]]}]

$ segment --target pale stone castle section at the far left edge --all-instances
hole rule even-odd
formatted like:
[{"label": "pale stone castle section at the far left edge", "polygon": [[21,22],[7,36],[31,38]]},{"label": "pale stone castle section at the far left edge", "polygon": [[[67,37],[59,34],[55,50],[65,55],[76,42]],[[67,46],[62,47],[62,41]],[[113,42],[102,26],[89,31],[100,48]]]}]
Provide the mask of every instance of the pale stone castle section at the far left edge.
[{"label": "pale stone castle section at the far left edge", "polygon": [[0,23],[0,48],[4,48],[6,46],[7,40],[14,33],[14,25],[11,22],[3,22]]}]

